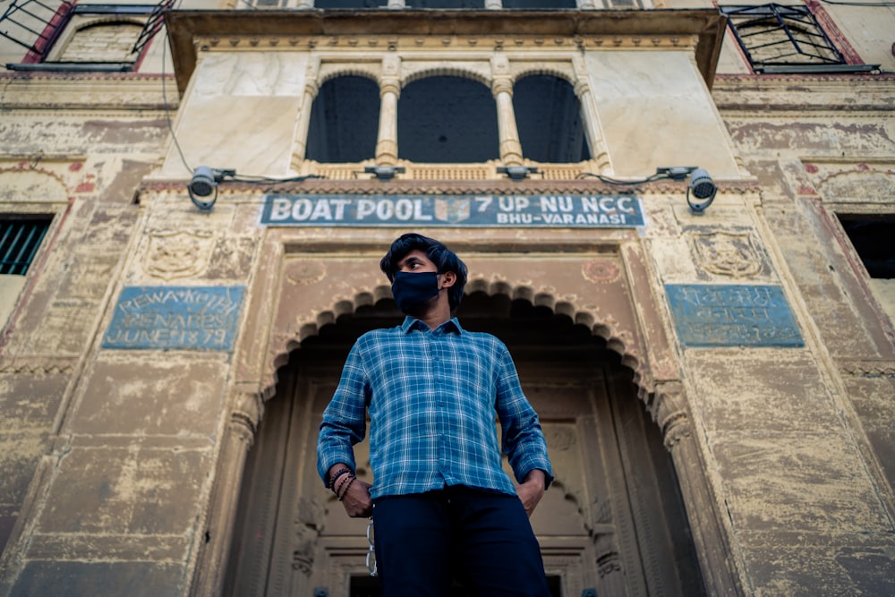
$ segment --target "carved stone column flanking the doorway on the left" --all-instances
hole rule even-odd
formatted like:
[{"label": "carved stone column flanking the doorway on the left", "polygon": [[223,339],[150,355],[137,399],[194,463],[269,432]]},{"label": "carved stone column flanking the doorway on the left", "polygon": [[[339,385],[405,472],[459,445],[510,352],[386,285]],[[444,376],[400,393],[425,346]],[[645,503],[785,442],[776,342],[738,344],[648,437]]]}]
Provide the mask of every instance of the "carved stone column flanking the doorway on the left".
[{"label": "carved stone column flanking the doorway on the left", "polygon": [[200,537],[203,543],[190,588],[190,594],[195,597],[219,595],[223,591],[226,564],[233,542],[236,507],[243,484],[245,457],[255,438],[262,410],[262,398],[259,395],[243,394],[236,397],[217,459],[205,533]]}]

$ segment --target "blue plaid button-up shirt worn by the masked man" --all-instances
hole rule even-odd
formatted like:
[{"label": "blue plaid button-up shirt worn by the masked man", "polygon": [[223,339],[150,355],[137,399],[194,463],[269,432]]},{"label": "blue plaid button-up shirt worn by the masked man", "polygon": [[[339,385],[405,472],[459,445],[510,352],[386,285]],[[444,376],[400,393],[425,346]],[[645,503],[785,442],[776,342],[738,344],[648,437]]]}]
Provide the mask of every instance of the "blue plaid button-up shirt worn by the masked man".
[{"label": "blue plaid button-up shirt worn by the masked man", "polygon": [[516,480],[533,469],[552,480],[538,414],[524,396],[507,346],[456,319],[438,328],[406,318],[358,338],[323,413],[317,468],[356,470],[352,447],[370,414],[371,496],[465,485],[516,494],[501,468],[495,419]]}]

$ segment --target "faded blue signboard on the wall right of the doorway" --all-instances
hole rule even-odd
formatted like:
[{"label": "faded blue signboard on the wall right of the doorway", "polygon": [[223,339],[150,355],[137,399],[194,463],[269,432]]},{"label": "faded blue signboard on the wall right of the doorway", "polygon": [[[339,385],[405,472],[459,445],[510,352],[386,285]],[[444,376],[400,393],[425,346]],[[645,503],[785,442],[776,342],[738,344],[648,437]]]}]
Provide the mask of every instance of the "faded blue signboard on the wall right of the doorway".
[{"label": "faded blue signboard on the wall right of the doorway", "polygon": [[668,284],[685,346],[804,346],[780,286]]}]

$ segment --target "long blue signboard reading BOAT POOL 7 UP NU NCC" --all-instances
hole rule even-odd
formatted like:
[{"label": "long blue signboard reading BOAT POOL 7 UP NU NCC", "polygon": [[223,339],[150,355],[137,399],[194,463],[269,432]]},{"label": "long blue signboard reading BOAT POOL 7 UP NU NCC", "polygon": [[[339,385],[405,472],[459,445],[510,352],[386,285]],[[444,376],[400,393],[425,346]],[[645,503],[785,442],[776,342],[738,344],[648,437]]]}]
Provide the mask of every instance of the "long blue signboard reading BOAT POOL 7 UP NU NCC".
[{"label": "long blue signboard reading BOAT POOL 7 UP NU NCC", "polygon": [[644,226],[633,195],[265,196],[268,226]]}]

